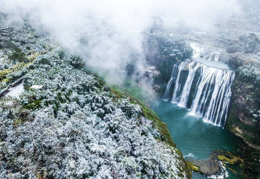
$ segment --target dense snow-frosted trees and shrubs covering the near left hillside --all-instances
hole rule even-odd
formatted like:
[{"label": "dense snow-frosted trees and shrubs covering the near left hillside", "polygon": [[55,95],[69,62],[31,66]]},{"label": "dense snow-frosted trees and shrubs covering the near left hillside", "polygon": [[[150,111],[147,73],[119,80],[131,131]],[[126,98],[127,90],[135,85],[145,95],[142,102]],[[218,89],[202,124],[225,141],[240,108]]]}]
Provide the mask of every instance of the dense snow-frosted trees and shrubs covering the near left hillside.
[{"label": "dense snow-frosted trees and shrubs covering the near left hillside", "polygon": [[46,89],[28,88],[7,99],[15,105],[0,107],[1,178],[187,178],[178,175],[175,149],[138,125],[140,106],[112,101],[96,77],[55,52],[44,58],[48,64],[35,64],[24,85]]}]

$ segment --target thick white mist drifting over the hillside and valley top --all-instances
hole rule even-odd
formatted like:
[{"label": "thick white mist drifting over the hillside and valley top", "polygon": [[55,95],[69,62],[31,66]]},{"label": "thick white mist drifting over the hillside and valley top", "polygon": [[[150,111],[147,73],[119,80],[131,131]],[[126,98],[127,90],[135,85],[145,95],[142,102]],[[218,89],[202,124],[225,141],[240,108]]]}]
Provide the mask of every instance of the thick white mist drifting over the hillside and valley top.
[{"label": "thick white mist drifting over the hillside and valley top", "polygon": [[162,17],[166,27],[178,19],[210,24],[223,12],[227,18],[240,11],[235,0],[1,0],[0,3],[0,10],[9,15],[10,23],[29,17],[39,33],[53,35],[69,53],[83,57],[86,66],[115,84],[124,80],[127,64],[135,64],[139,73],[134,78],[139,80],[149,67],[143,40],[153,24],[151,16]]}]

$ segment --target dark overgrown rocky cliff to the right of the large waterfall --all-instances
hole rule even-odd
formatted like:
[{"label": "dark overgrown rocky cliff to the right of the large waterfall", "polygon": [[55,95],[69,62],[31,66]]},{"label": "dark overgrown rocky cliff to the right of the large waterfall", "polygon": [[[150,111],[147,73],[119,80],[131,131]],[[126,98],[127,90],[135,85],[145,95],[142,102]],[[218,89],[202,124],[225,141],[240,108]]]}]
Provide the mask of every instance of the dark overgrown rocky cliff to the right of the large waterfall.
[{"label": "dark overgrown rocky cliff to the right of the large waterfall", "polygon": [[259,109],[259,88],[251,83],[240,77],[235,78],[226,128],[248,145],[260,149],[259,120],[254,116],[256,109]]}]

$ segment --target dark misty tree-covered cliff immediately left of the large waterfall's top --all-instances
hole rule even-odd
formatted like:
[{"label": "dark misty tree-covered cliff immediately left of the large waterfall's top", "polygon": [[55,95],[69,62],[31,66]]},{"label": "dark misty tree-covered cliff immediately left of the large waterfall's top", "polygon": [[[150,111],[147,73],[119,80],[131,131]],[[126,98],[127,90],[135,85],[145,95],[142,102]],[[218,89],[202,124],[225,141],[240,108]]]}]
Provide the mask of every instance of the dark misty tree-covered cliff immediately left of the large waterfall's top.
[{"label": "dark misty tree-covered cliff immediately left of the large waterfall's top", "polygon": [[145,53],[149,64],[154,65],[160,72],[154,77],[155,83],[164,86],[170,80],[174,64],[190,58],[193,50],[184,37],[171,38],[162,34],[147,34]]}]

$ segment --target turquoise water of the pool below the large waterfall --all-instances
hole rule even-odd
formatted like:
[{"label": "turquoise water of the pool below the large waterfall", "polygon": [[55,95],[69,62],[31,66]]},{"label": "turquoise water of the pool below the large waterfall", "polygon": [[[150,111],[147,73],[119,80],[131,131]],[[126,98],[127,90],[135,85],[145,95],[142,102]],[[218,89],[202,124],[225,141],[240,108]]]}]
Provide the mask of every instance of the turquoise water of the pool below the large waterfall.
[{"label": "turquoise water of the pool below the large waterfall", "polygon": [[[203,122],[200,117],[190,115],[187,108],[163,100],[150,102],[151,109],[167,124],[171,138],[184,158],[207,159],[212,150],[233,151],[243,141],[227,129]],[[228,171],[230,179],[241,179],[241,175]],[[193,179],[206,178],[193,172]]]}]

